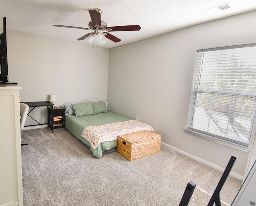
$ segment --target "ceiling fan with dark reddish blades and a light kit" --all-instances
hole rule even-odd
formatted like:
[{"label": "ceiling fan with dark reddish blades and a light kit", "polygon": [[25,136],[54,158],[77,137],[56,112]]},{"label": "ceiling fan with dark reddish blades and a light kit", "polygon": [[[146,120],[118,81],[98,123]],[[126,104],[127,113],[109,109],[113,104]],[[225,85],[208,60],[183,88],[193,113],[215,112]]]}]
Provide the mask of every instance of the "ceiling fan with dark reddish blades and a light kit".
[{"label": "ceiling fan with dark reddish blades and a light kit", "polygon": [[114,42],[121,41],[121,39],[115,37],[114,35],[106,31],[139,31],[140,30],[140,25],[107,27],[107,23],[102,21],[100,17],[102,14],[102,9],[97,8],[94,10],[89,10],[89,14],[92,19],[88,24],[89,28],[76,27],[76,26],[63,26],[63,25],[56,25],[56,24],[54,24],[53,26],[85,29],[85,30],[93,31],[91,33],[87,33],[86,35],[76,40],[80,41],[80,40],[87,39],[90,43],[92,43],[92,40],[94,39],[94,37],[97,36],[99,45],[103,45],[104,43],[106,43],[103,37],[106,37]]}]

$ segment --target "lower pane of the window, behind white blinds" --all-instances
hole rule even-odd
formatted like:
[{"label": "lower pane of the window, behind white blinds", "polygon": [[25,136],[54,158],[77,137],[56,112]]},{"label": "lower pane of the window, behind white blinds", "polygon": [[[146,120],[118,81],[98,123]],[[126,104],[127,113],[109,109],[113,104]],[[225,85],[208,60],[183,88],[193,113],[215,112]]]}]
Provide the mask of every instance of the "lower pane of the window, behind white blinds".
[{"label": "lower pane of the window, behind white blinds", "polygon": [[191,128],[248,144],[256,98],[196,93]]}]

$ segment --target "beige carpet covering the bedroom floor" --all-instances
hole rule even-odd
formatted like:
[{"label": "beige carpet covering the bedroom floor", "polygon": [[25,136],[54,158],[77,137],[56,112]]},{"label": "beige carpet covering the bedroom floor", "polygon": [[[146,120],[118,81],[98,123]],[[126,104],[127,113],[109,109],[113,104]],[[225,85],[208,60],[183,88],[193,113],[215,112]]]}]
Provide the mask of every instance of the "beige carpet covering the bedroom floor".
[{"label": "beige carpet covering the bedroom floor", "polygon": [[[178,206],[189,181],[189,206],[206,206],[222,173],[167,147],[128,161],[116,152],[94,157],[66,129],[21,132],[24,206]],[[227,162],[228,163],[228,162]],[[220,197],[230,205],[242,181],[228,177]]]}]

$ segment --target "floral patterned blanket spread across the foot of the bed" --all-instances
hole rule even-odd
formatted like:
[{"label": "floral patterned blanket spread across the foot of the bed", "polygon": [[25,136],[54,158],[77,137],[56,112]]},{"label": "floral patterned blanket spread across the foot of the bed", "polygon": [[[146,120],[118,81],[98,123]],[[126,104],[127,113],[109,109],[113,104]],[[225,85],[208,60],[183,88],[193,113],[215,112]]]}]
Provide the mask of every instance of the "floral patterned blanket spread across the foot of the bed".
[{"label": "floral patterned blanket spread across the foot of the bed", "polygon": [[82,137],[90,142],[92,148],[96,149],[98,145],[104,141],[117,140],[118,135],[142,130],[154,131],[149,124],[137,120],[130,120],[126,122],[86,127],[84,128]]}]

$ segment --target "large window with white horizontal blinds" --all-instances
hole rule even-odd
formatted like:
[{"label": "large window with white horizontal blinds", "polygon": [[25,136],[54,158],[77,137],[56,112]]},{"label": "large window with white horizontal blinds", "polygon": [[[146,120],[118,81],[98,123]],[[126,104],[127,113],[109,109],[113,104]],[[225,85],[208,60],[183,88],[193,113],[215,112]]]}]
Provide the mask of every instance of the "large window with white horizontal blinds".
[{"label": "large window with white horizontal blinds", "polygon": [[198,50],[187,128],[248,146],[256,108],[256,43]]}]

